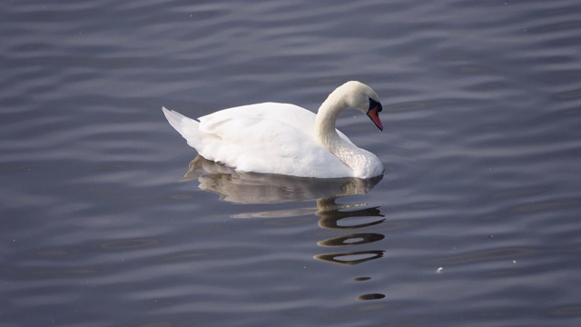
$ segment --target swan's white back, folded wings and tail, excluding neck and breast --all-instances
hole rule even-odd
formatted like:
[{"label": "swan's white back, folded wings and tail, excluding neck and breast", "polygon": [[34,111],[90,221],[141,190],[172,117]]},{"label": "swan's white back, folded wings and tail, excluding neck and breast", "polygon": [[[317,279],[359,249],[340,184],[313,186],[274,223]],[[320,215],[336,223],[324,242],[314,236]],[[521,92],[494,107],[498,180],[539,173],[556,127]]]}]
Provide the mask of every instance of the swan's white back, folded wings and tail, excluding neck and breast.
[{"label": "swan's white back, folded wings and tail, excluding neck and breast", "polygon": [[165,108],[163,113],[204,158],[243,172],[323,178],[352,173],[315,141],[316,115],[294,104],[243,105],[202,116],[200,122]]}]

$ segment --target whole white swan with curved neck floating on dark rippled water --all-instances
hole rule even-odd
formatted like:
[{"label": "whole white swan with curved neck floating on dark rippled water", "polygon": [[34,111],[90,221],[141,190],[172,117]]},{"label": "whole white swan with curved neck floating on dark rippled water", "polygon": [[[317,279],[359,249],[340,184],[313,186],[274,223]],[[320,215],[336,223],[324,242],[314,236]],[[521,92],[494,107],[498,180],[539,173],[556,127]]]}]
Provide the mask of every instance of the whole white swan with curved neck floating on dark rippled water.
[{"label": "whole white swan with curved neck floating on dark rippled water", "polygon": [[297,177],[368,179],[384,172],[375,154],[335,128],[352,107],[383,131],[379,96],[350,81],[335,89],[314,114],[294,104],[249,104],[204,115],[198,121],[162,107],[172,127],[202,157],[241,172]]}]

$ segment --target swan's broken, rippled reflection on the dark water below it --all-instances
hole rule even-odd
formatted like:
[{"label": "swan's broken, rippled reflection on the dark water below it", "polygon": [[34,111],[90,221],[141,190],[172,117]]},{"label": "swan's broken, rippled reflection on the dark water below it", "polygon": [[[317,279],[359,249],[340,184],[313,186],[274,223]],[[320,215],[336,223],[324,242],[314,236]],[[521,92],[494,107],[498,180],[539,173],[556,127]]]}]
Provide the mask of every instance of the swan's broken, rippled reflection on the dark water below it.
[{"label": "swan's broken, rippled reflection on the dark water below it", "polygon": [[[217,193],[223,201],[233,203],[290,203],[315,200],[316,208],[265,211],[260,213],[240,213],[233,218],[282,218],[315,214],[320,217],[319,226],[337,231],[354,230],[383,223],[385,218],[379,207],[366,207],[367,203],[336,203],[341,197],[369,193],[383,176],[369,180],[357,178],[316,179],[285,175],[236,172],[223,164],[196,156],[189,165],[182,180],[196,179],[199,187]],[[355,208],[355,209],[354,209]],[[369,221],[369,217],[374,218]],[[367,218],[367,219],[366,219]],[[349,224],[340,223],[349,220]],[[360,219],[365,219],[359,222]],[[350,247],[375,243],[385,238],[380,233],[348,233],[317,244],[321,247]],[[346,251],[321,253],[314,259],[327,263],[355,265],[383,257],[384,250]],[[359,278],[359,279],[358,279]],[[369,278],[368,278],[369,279]],[[360,277],[355,281],[362,281]],[[363,294],[357,300],[377,300],[384,298],[380,293]]]}]

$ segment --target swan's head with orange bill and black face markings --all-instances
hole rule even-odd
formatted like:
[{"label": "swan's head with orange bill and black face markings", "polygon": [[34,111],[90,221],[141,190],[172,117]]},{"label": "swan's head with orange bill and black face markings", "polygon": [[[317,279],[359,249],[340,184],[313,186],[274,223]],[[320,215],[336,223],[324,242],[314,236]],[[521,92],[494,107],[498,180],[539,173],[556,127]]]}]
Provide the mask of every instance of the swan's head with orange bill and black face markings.
[{"label": "swan's head with orange bill and black face markings", "polygon": [[345,103],[352,108],[358,109],[363,114],[367,114],[373,124],[383,131],[383,124],[379,120],[379,113],[383,110],[379,102],[379,96],[368,85],[350,81],[340,86],[342,94],[345,96]]}]

